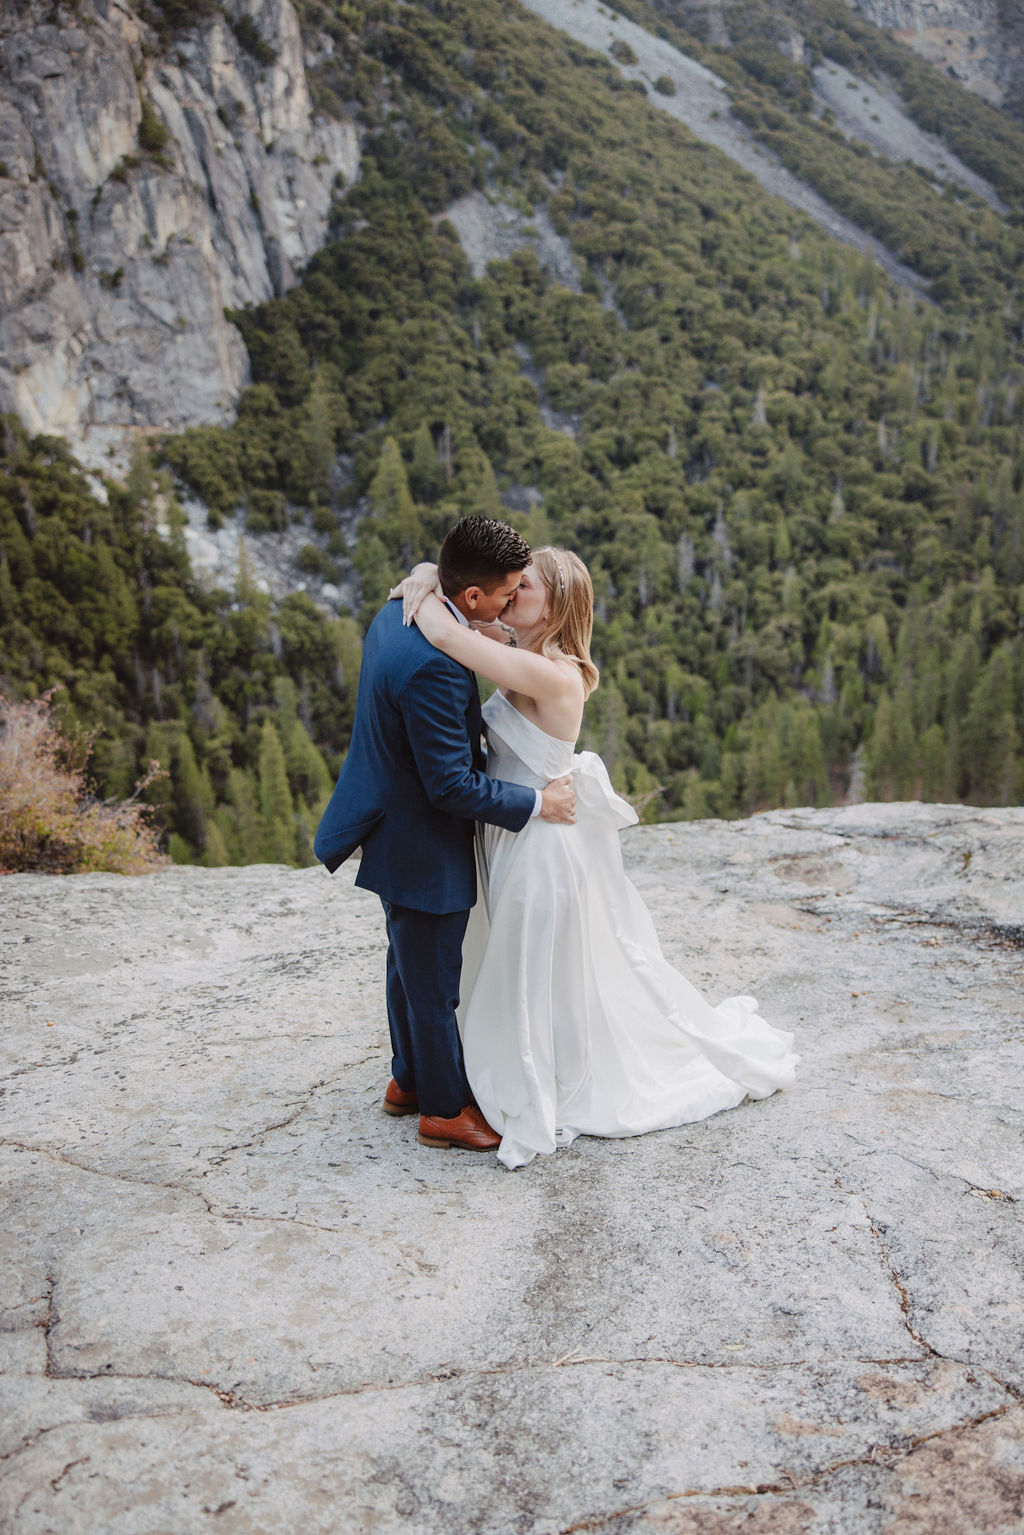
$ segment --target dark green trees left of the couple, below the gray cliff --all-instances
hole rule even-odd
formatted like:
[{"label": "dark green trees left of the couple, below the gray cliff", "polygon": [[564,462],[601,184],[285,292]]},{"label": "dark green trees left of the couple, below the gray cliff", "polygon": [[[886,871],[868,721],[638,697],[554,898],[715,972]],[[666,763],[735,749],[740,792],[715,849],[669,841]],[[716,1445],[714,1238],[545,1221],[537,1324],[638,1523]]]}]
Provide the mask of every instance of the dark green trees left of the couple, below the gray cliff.
[{"label": "dark green trees left of the couple, below the gray cliff", "polygon": [[[163,519],[167,519],[164,522]],[[91,771],[146,798],[178,861],[310,863],[359,672],[352,619],[296,593],[272,611],[192,580],[181,514],[143,459],[104,503],[52,437],[0,418],[0,655],[18,697],[57,688]],[[319,748],[315,744],[319,743]],[[84,744],[84,741],[83,741]]]}]

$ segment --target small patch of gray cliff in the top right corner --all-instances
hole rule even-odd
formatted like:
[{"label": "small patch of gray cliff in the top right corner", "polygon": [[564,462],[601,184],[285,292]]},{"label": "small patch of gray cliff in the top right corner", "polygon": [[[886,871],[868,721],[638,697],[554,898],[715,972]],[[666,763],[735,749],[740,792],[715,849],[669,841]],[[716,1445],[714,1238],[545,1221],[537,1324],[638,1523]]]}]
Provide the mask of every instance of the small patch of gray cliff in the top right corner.
[{"label": "small patch of gray cliff in the top right corner", "polygon": [[1019,106],[1024,6],[1018,0],[846,0],[993,106]]}]

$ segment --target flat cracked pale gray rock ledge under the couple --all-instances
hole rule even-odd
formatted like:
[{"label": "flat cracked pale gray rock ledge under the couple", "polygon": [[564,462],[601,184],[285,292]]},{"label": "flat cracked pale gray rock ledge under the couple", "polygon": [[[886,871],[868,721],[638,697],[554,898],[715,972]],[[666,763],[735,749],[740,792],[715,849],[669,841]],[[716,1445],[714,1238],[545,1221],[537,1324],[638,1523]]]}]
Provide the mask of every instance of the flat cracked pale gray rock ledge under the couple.
[{"label": "flat cracked pale gray rock ledge under the couple", "polygon": [[1024,809],[626,857],[798,1084],[514,1174],[381,1113],[352,870],[0,883],[5,1530],[1019,1530]]}]

